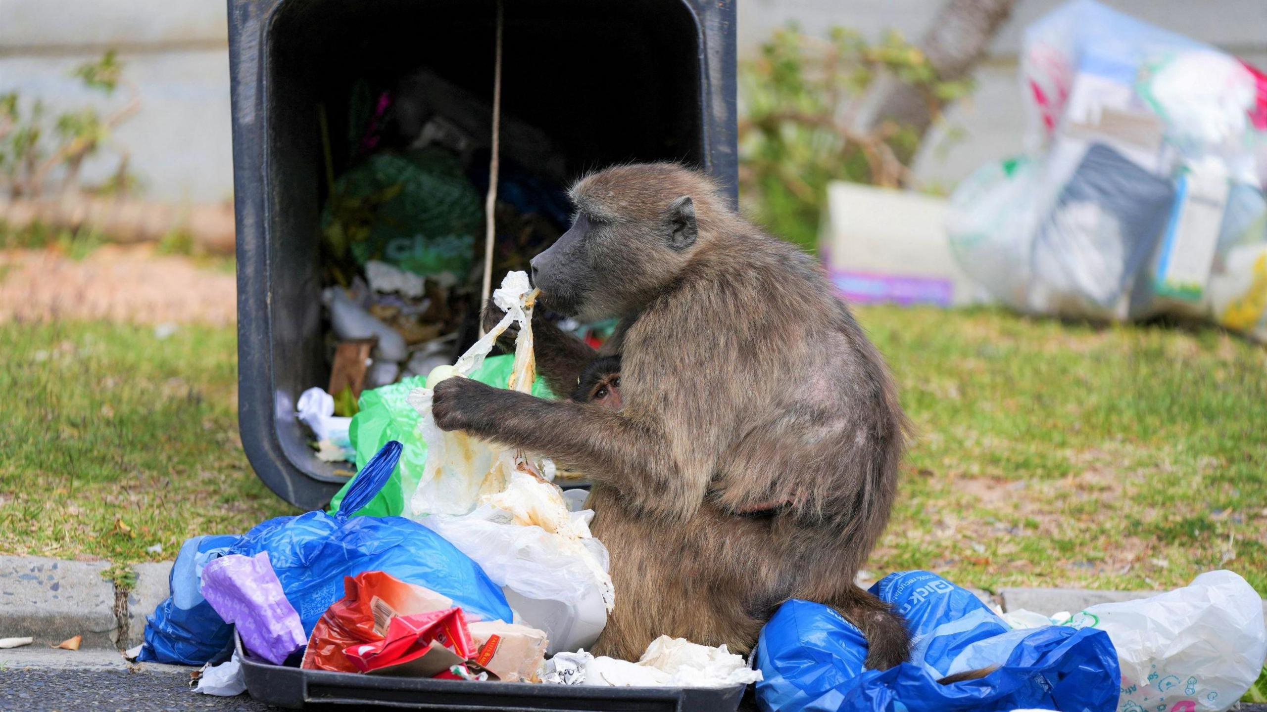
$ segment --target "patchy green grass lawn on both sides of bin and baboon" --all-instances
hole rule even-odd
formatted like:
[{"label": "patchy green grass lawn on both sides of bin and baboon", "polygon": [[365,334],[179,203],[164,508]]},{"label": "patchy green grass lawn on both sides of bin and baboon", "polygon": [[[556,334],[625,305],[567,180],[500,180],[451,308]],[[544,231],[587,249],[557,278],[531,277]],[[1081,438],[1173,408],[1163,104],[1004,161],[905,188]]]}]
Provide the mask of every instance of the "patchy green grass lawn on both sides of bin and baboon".
[{"label": "patchy green grass lawn on both sides of bin and baboon", "polygon": [[[859,315],[917,429],[870,571],[1140,589],[1229,568],[1267,593],[1267,350],[997,310]],[[9,323],[0,353],[0,552],[170,559],[294,513],[242,454],[232,327]]]}]

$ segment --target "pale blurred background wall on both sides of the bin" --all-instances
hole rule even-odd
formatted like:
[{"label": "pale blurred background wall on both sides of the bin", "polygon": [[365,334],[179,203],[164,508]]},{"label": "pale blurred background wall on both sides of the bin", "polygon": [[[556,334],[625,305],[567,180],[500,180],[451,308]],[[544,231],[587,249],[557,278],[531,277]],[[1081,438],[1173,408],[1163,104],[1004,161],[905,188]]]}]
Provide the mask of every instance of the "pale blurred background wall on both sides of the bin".
[{"label": "pale blurred background wall on both sides of the bin", "polygon": [[[843,24],[870,35],[893,27],[916,39],[941,0],[737,3],[740,51],[749,52],[788,20],[808,32]],[[944,155],[933,142],[917,171],[925,181],[953,184],[981,163],[1020,149],[1024,113],[1015,67],[1020,30],[1057,4],[1021,0],[978,72],[977,94],[949,113],[949,124],[963,128],[967,139]],[[1109,4],[1267,66],[1267,0]],[[147,194],[220,200],[233,189],[226,33],[223,0],[0,0],[0,92],[18,89],[54,110],[82,105],[92,95],[67,72],[115,47],[142,90],[141,113],[119,129],[115,141],[132,153]],[[114,165],[113,160],[98,161],[86,177],[101,179]]]}]

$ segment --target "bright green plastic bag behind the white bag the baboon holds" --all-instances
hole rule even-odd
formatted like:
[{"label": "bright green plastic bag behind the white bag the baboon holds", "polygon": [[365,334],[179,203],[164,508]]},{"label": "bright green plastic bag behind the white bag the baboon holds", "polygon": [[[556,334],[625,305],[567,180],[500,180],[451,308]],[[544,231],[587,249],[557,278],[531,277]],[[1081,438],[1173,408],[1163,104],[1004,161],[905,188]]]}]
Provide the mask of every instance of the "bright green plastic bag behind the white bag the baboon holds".
[{"label": "bright green plastic bag behind the white bag the baboon holds", "polygon": [[[489,356],[471,374],[471,378],[488,385],[506,388],[511,383],[513,366],[514,356],[512,353]],[[369,504],[353,512],[353,517],[403,517],[405,514],[409,494],[417,489],[418,478],[422,475],[423,465],[427,464],[427,443],[418,435],[418,412],[405,403],[405,397],[409,395],[411,390],[422,388],[426,381],[427,376],[409,376],[400,383],[366,390],[361,394],[361,409],[352,417],[352,424],[347,431],[352,447],[356,450],[357,471],[389,440],[399,441],[404,445],[404,450],[400,452],[400,462],[392,473],[388,484]],[[541,376],[537,376],[532,383],[532,395],[555,398]],[[347,480],[343,489],[338,490],[338,494],[329,500],[331,514],[338,512],[343,494],[351,489],[353,481],[356,478]]]}]

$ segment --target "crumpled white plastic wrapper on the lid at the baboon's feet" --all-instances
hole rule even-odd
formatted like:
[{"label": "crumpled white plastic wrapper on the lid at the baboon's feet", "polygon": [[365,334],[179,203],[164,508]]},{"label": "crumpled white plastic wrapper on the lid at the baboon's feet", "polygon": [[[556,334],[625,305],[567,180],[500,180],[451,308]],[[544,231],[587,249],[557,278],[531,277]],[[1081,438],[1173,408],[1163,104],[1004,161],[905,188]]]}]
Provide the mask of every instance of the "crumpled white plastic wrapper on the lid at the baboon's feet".
[{"label": "crumpled white plastic wrapper on the lid at the baboon's feet", "polygon": [[660,636],[651,641],[637,663],[598,656],[580,650],[560,652],[546,661],[541,680],[569,685],[606,687],[730,687],[755,683],[744,658],[680,637]]}]

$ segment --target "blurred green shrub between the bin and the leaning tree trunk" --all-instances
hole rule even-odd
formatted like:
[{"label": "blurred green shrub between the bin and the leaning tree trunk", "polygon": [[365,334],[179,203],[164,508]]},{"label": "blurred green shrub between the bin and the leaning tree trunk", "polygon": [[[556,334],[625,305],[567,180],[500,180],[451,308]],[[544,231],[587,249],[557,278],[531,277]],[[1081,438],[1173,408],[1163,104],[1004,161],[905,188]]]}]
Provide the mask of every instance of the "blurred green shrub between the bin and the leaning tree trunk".
[{"label": "blurred green shrub between the bin and the leaning tree trunk", "polygon": [[739,180],[753,219],[813,252],[827,182],[911,184],[921,134],[891,120],[865,125],[863,117],[882,76],[919,89],[934,113],[972,89],[939,80],[897,32],[873,43],[845,28],[818,38],[789,25],[740,63]]}]

